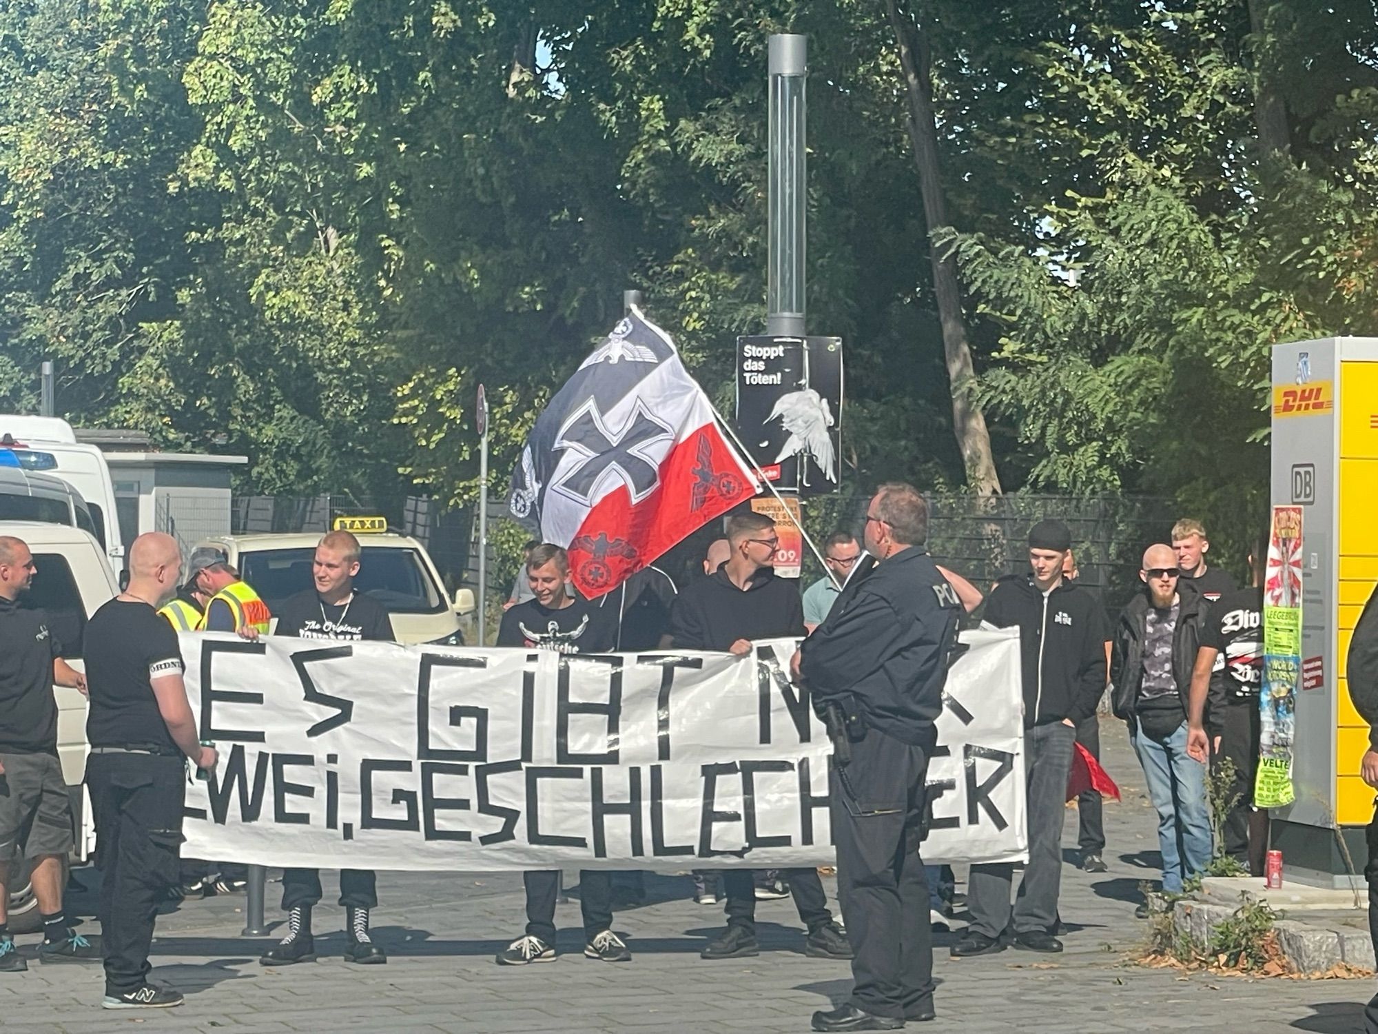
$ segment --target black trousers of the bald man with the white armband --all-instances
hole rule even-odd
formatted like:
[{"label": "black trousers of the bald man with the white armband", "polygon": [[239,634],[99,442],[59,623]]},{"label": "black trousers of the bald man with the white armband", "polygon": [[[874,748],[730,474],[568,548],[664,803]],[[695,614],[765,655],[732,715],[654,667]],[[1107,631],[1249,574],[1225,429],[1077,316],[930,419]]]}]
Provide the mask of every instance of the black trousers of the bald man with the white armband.
[{"label": "black trousers of the bald man with the white armband", "polygon": [[158,904],[178,882],[186,762],[152,754],[92,754],[87,789],[101,869],[105,993],[147,982]]}]

